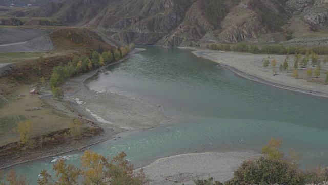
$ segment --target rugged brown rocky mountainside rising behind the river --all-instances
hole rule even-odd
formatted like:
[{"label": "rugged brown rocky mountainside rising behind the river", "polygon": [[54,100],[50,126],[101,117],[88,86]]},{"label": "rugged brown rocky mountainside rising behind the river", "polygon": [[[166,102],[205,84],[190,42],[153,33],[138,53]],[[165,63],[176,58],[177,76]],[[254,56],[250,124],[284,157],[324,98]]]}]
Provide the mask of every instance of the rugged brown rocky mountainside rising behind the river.
[{"label": "rugged brown rocky mountainside rising behind the river", "polygon": [[322,33],[327,13],[327,0],[67,0],[20,14],[98,28],[127,43],[182,46],[288,41]]}]

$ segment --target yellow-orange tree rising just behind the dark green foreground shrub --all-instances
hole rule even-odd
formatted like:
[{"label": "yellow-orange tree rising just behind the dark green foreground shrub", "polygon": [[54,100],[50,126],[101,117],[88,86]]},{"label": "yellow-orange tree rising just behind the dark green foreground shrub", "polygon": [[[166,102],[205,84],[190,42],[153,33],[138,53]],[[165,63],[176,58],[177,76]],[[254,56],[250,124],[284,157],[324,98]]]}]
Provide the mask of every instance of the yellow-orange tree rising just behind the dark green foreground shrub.
[{"label": "yellow-orange tree rising just behind the dark green foreground shrub", "polygon": [[279,151],[279,147],[282,144],[282,139],[271,138],[268,145],[262,148],[261,154],[270,160],[281,160],[283,153]]}]

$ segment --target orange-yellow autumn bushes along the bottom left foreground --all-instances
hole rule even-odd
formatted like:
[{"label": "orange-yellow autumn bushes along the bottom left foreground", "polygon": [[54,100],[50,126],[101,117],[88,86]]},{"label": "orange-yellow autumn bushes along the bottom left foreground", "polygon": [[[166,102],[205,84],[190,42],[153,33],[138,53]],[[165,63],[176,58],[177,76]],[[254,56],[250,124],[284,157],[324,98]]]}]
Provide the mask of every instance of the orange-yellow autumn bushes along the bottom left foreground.
[{"label": "orange-yellow autumn bushes along the bottom left foreground", "polygon": [[[144,170],[141,169],[133,172],[134,167],[124,158],[127,155],[122,152],[113,159],[105,158],[104,156],[92,151],[85,151],[81,156],[82,168],[75,167],[71,164],[66,164],[65,160],[59,160],[53,165],[56,171],[53,179],[52,175],[46,170],[40,173],[40,178],[37,180],[39,185],[72,185],[72,184],[117,184],[117,185],[142,185],[148,184]],[[13,169],[4,177],[0,171],[0,185],[26,185],[25,176],[18,176]],[[6,180],[6,182],[2,182]]]}]

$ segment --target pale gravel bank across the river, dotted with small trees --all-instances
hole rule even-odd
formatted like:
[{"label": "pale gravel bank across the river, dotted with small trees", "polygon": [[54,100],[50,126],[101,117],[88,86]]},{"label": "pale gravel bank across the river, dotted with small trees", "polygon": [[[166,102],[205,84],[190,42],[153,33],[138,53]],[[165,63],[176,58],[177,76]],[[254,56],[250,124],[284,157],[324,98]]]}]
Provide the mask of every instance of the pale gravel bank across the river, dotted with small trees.
[{"label": "pale gravel bank across the river, dotted with small trees", "polygon": [[[212,60],[229,68],[238,75],[250,80],[258,81],[275,87],[293,90],[305,94],[321,96],[328,98],[328,85],[316,80],[324,81],[325,72],[328,69],[327,64],[322,64],[321,75],[319,78],[306,77],[308,68],[298,69],[300,78],[292,77],[292,70],[279,71],[279,65],[283,63],[285,55],[273,54],[250,54],[250,53],[235,53],[213,50],[198,50],[196,48],[185,47],[181,49],[190,49],[197,57]],[[275,70],[276,75],[273,75],[272,67],[263,68],[263,59],[277,61]],[[290,57],[288,65],[293,67],[294,59]]]}]

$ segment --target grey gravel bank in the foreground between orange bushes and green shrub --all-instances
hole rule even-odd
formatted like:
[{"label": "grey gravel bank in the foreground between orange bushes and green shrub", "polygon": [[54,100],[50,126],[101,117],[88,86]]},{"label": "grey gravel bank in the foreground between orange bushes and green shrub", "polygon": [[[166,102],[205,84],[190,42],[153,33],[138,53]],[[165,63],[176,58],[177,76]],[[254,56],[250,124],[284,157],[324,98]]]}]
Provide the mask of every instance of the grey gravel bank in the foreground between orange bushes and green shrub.
[{"label": "grey gravel bank in the foreground between orange bushes and green shrub", "polygon": [[259,157],[247,152],[190,153],[157,159],[143,169],[152,185],[194,185],[194,179],[209,177],[224,182],[243,161]]}]

